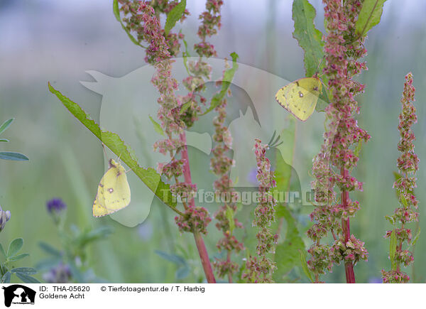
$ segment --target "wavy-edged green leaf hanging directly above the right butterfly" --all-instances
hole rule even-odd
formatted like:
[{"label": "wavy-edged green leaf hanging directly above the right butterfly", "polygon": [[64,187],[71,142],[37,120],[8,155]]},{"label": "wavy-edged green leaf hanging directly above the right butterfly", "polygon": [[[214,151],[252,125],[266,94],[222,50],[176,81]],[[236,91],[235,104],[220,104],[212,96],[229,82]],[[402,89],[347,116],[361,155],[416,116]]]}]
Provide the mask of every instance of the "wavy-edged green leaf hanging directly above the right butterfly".
[{"label": "wavy-edged green leaf hanging directly above the right butterfly", "polygon": [[293,1],[293,21],[295,21],[293,38],[297,40],[300,47],[305,51],[304,63],[307,77],[320,72],[321,67],[318,66],[324,57],[322,33],[315,28],[314,18],[315,9],[309,1]]}]

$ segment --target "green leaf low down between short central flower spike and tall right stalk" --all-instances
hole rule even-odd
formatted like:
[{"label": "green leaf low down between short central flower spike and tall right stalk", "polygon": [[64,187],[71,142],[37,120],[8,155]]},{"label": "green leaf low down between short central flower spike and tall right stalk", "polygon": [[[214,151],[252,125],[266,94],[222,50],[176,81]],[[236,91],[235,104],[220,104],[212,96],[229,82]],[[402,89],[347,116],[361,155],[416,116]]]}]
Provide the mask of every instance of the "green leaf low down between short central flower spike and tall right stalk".
[{"label": "green leaf low down between short central flower spike and tall right stalk", "polygon": [[282,244],[275,249],[275,263],[278,268],[273,273],[275,281],[280,281],[287,273],[300,263],[300,251],[305,251],[305,244],[297,230],[296,222],[287,207],[277,206],[277,217],[284,217],[287,222],[287,232]]}]

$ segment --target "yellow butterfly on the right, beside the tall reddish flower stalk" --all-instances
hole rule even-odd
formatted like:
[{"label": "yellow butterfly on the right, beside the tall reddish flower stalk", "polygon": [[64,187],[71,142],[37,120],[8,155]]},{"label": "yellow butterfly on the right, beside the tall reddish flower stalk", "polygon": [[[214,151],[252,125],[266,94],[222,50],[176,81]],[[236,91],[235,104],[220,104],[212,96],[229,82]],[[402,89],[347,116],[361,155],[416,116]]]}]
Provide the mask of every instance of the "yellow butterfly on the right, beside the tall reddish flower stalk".
[{"label": "yellow butterfly on the right, beside the tall reddish flower stalk", "polygon": [[321,90],[321,81],[314,75],[290,82],[278,90],[275,99],[297,119],[305,121],[314,112]]}]

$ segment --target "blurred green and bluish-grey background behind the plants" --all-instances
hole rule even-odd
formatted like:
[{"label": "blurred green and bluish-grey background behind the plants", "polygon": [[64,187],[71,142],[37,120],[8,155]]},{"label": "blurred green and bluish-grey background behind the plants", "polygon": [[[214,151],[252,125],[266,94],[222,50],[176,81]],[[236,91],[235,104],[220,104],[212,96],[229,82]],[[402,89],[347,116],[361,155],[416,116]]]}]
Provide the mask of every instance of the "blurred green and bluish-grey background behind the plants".
[{"label": "blurred green and bluish-grey background behind the plants", "polygon": [[[11,221],[0,234],[6,246],[11,239],[23,237],[23,251],[31,254],[24,264],[33,266],[46,257],[38,242],[48,242],[60,247],[60,237],[53,221],[45,210],[45,202],[61,197],[67,203],[67,225],[84,227],[109,226],[114,232],[101,242],[89,247],[89,264],[94,273],[111,282],[198,282],[204,274],[191,234],[180,234],[174,224],[175,214],[157,200],[143,224],[136,227],[123,225],[107,218],[92,217],[92,202],[97,183],[104,173],[102,147],[58,99],[48,92],[47,82],[67,94],[97,120],[102,97],[87,90],[80,80],[91,80],[85,73],[97,70],[106,75],[120,77],[144,65],[145,52],[133,45],[116,22],[112,1],[0,1],[0,122],[16,117],[4,138],[2,151],[26,154],[30,162],[0,161],[0,205],[11,210]],[[191,16],[178,26],[190,46],[195,36],[197,16],[204,9],[204,1],[187,1]],[[293,39],[290,0],[225,1],[222,10],[222,29],[212,38],[219,58],[235,51],[239,62],[278,75],[287,80],[304,76],[303,53]],[[317,9],[316,24],[323,31],[321,1],[310,1]],[[364,193],[354,198],[360,200],[361,210],[351,219],[351,231],[366,242],[368,262],[355,267],[357,282],[380,281],[381,269],[389,269],[388,240],[383,238],[391,226],[384,219],[397,206],[393,191],[393,171],[396,170],[398,151],[398,114],[404,76],[413,72],[417,89],[418,124],[414,126],[415,151],[420,157],[417,190],[420,200],[420,227],[426,231],[422,214],[426,211],[425,119],[426,109],[426,11],[424,1],[387,1],[381,23],[368,34],[366,57],[368,71],[360,80],[366,92],[358,97],[361,114],[357,116],[361,127],[372,138],[363,146],[355,175],[364,181]],[[153,90],[154,91],[154,90]],[[211,121],[205,122],[211,126]],[[315,126],[322,128],[319,122]],[[296,156],[306,170],[322,143],[319,136],[309,133],[309,127],[297,124]],[[205,128],[205,131],[212,131]],[[315,135],[315,136],[314,136]],[[238,144],[238,140],[235,141]],[[267,142],[267,141],[266,141]],[[195,153],[192,150],[192,153]],[[209,164],[208,158],[193,162]],[[251,167],[248,167],[251,168]],[[299,175],[302,186],[309,186],[307,173]],[[214,180],[208,175],[206,181]],[[131,184],[132,185],[132,184]],[[141,185],[141,183],[137,184]],[[239,214],[245,224],[246,245],[255,240],[250,214],[246,207]],[[214,212],[214,209],[209,209]],[[309,221],[305,207],[300,216],[300,229]],[[284,232],[283,232],[284,233]],[[217,254],[215,243],[220,234],[209,225],[205,242],[209,253]],[[426,237],[420,236],[415,247],[415,270],[406,269],[415,282],[425,282]],[[185,278],[175,277],[180,266],[162,259],[155,251],[182,256],[189,266]],[[241,261],[244,254],[236,256]],[[295,271],[297,282],[306,282]],[[40,274],[36,275],[42,278]],[[342,266],[324,278],[327,282],[343,282]]]}]

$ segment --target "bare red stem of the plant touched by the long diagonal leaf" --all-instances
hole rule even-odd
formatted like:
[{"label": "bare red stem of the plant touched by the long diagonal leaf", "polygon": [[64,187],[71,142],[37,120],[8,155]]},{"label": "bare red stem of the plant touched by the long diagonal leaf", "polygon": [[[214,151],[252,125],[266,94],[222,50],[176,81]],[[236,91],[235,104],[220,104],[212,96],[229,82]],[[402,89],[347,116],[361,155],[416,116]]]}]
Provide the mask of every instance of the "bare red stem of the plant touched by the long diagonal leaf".
[{"label": "bare red stem of the plant touched by the long diagonal leaf", "polygon": [[[191,179],[191,170],[190,170],[190,161],[188,159],[188,148],[186,144],[186,136],[185,132],[180,134],[180,141],[182,142],[183,149],[180,151],[183,163],[183,176],[185,178],[185,183],[192,183]],[[191,197],[189,202],[190,207],[195,207],[194,197]],[[206,246],[204,244],[204,240],[202,239],[202,235],[200,232],[194,232],[195,244],[197,245],[198,254],[200,254],[202,268],[204,269],[204,273],[207,278],[208,283],[216,283],[216,279],[214,278],[214,273],[212,269],[212,264],[210,264],[209,254],[207,253]]]}]

